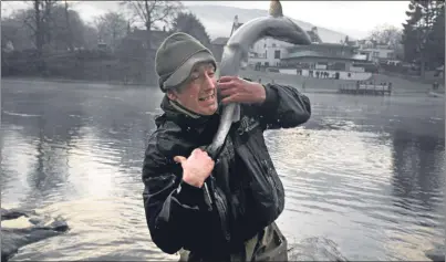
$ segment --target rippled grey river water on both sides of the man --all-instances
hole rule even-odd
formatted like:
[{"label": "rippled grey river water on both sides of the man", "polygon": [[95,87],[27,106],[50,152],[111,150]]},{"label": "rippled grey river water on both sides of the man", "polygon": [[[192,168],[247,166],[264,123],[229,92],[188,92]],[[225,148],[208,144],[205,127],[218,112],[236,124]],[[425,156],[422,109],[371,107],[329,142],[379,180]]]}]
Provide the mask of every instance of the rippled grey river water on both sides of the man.
[{"label": "rippled grey river water on both sides of the man", "polygon": [[[1,203],[62,216],[71,230],[13,260],[177,259],[151,242],[141,168],[162,94],[101,84],[1,82]],[[445,229],[445,107],[424,96],[308,94],[311,119],[268,130],[290,245],[349,260],[426,260]]]}]

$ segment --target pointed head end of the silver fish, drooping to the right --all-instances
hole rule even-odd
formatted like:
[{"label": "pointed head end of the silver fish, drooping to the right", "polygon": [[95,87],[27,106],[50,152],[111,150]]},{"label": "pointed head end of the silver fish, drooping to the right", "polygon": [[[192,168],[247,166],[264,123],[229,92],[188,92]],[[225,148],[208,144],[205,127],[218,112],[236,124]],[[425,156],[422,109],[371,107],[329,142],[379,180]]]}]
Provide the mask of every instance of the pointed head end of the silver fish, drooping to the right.
[{"label": "pointed head end of the silver fish, drooping to the right", "polygon": [[288,42],[291,44],[309,45],[310,35],[295,22],[287,17],[271,18],[268,36]]}]

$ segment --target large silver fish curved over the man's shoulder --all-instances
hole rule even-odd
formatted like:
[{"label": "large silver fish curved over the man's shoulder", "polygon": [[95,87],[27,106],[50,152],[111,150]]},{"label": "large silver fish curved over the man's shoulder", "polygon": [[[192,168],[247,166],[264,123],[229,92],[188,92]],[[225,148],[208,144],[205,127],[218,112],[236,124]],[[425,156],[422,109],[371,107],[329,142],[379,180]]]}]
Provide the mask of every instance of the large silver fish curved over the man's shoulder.
[{"label": "large silver fish curved over the man's shoulder", "polygon": [[[262,38],[273,38],[292,44],[311,44],[308,33],[289,18],[283,17],[282,6],[271,1],[269,15],[257,18],[241,25],[225,46],[219,75],[238,75],[242,62],[248,61],[249,46]],[[225,143],[232,123],[240,120],[240,105],[231,103],[224,107],[218,130],[207,147],[212,158]]]}]

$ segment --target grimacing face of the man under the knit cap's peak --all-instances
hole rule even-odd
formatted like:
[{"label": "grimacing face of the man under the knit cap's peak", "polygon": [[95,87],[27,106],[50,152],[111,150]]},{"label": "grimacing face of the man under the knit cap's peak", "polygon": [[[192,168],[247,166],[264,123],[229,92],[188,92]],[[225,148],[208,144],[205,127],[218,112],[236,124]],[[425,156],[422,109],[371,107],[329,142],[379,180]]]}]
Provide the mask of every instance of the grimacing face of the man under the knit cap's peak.
[{"label": "grimacing face of the man under the knit cap's peak", "polygon": [[168,97],[187,109],[200,114],[212,115],[218,108],[217,80],[211,63],[195,66],[186,84],[168,93]]}]

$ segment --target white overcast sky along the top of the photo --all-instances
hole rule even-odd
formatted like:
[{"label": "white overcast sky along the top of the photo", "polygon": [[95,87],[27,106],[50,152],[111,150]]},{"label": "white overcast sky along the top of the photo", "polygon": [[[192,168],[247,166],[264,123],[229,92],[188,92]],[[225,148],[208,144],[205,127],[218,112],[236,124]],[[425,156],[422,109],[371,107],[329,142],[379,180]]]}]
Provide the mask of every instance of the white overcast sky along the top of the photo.
[{"label": "white overcast sky along the top of the photo", "polygon": [[[120,9],[117,1],[73,1],[73,8],[81,17],[92,21],[95,15],[108,10]],[[184,1],[184,4],[220,4],[245,9],[269,9],[269,1]],[[283,12],[301,21],[323,27],[353,38],[367,36],[376,25],[390,24],[402,28],[406,20],[408,1],[281,1]],[[22,1],[2,1],[2,15],[12,9],[29,3]],[[218,12],[218,10],[216,10]]]}]

